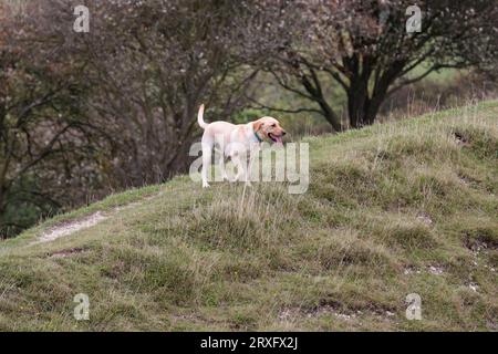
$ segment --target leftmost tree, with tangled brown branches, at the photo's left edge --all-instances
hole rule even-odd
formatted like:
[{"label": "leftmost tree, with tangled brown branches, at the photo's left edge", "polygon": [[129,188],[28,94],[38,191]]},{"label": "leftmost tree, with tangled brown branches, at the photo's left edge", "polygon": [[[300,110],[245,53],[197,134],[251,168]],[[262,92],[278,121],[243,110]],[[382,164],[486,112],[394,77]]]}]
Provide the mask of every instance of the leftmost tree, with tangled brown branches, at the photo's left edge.
[{"label": "leftmost tree, with tangled brown branches, at the photo's left edge", "polygon": [[84,63],[74,61],[42,6],[0,7],[0,237],[19,232],[90,186],[87,123],[80,119]]}]

